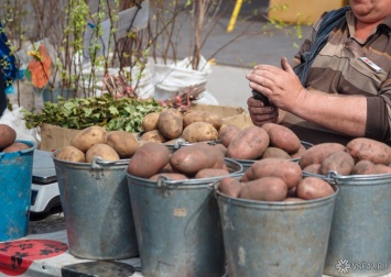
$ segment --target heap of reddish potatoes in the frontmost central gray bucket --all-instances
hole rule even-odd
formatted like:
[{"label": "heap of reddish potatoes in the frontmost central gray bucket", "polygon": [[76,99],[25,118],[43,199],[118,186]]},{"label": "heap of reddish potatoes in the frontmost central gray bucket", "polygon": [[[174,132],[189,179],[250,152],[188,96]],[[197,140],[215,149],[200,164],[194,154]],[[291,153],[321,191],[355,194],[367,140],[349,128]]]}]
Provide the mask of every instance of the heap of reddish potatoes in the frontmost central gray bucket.
[{"label": "heap of reddish potatoes in the frontmost central gray bucket", "polygon": [[232,198],[281,202],[314,200],[335,192],[322,178],[303,177],[298,163],[284,158],[259,159],[241,178],[222,178],[218,190]]}]

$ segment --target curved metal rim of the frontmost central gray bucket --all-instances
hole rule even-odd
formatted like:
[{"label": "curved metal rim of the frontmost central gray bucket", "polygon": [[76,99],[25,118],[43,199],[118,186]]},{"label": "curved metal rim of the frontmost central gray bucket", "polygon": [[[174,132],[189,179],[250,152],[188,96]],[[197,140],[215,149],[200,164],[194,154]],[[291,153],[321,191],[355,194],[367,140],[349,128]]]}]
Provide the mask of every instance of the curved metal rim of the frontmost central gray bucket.
[{"label": "curved metal rim of the frontmost central gray bucket", "polygon": [[274,209],[295,209],[298,207],[312,207],[312,206],[319,206],[326,202],[335,201],[337,195],[339,193],[339,187],[336,185],[332,185],[334,188],[334,193],[327,197],[323,198],[317,198],[317,199],[312,199],[312,200],[304,200],[301,202],[283,202],[283,201],[261,201],[261,200],[250,200],[250,199],[242,199],[242,198],[235,198],[227,196],[219,191],[218,189],[215,190],[215,197],[217,200],[220,200],[220,198],[225,199],[226,201],[233,202],[237,204],[247,204],[247,206],[254,206],[259,208],[274,208]]}]

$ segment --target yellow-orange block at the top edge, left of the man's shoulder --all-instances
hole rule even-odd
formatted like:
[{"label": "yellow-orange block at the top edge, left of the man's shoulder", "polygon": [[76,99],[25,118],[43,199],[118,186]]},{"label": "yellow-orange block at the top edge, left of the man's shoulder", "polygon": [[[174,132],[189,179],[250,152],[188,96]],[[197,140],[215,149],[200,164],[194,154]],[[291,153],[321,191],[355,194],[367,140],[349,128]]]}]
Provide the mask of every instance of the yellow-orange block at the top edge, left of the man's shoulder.
[{"label": "yellow-orange block at the top edge, left of the man's shoulder", "polygon": [[325,11],[346,5],[344,0],[270,0],[270,20],[281,20],[287,23],[314,23]]}]

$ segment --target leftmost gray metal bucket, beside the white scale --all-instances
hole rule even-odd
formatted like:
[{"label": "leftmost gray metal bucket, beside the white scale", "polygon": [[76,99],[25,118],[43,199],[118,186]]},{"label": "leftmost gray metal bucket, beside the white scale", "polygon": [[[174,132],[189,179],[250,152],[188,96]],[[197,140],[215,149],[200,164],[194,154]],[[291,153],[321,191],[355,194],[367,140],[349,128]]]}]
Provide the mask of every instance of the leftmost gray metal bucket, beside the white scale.
[{"label": "leftmost gray metal bucket, beside the white scale", "polygon": [[52,154],[69,253],[87,259],[139,255],[126,170],[129,159],[70,163]]}]

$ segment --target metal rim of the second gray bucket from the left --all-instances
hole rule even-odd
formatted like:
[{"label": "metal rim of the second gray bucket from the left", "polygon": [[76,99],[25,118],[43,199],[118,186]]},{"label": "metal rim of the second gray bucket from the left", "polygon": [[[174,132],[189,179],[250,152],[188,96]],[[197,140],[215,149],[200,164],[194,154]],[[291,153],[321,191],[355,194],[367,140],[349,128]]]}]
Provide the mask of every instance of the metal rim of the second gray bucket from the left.
[{"label": "metal rim of the second gray bucket from the left", "polygon": [[[155,180],[150,180],[148,178],[141,178],[137,177],[134,175],[131,175],[127,171],[127,178],[129,179],[135,179],[138,181],[141,181],[145,185],[153,186],[153,187],[167,187],[167,188],[191,188],[191,187],[210,187],[214,188],[215,184],[220,181],[222,178],[227,177],[232,177],[232,178],[238,178],[243,175],[243,167],[240,163],[237,160],[233,160],[231,158],[225,158],[225,163],[230,163],[235,166],[238,167],[238,170],[230,173],[228,175],[222,175],[218,177],[213,177],[213,178],[198,178],[198,179],[185,179],[185,180],[170,180],[165,178],[164,176],[160,177],[158,181]],[[158,186],[156,186],[158,185]]]}]

